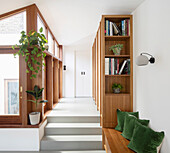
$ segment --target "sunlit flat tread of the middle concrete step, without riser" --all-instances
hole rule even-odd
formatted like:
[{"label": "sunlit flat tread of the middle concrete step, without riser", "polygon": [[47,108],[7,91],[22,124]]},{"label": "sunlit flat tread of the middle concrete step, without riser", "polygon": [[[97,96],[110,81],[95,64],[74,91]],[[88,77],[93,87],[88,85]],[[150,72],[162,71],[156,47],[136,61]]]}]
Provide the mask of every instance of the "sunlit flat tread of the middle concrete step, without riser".
[{"label": "sunlit flat tread of the middle concrete step, without riser", "polygon": [[48,123],[48,128],[101,128],[100,123]]}]

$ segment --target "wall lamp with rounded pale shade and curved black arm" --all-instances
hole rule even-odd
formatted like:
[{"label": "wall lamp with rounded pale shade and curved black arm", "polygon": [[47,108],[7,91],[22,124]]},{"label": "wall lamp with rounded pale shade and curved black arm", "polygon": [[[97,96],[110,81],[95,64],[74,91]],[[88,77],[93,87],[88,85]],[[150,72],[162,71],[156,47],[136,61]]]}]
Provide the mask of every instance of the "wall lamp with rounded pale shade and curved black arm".
[{"label": "wall lamp with rounded pale shade and curved black arm", "polygon": [[[149,59],[147,56],[145,56],[145,55],[150,56],[150,59]],[[145,66],[145,65],[147,65],[149,62],[150,62],[151,64],[155,63],[155,58],[154,58],[151,54],[149,54],[149,53],[141,53],[141,54],[136,58],[136,65],[138,65],[138,66]]]}]

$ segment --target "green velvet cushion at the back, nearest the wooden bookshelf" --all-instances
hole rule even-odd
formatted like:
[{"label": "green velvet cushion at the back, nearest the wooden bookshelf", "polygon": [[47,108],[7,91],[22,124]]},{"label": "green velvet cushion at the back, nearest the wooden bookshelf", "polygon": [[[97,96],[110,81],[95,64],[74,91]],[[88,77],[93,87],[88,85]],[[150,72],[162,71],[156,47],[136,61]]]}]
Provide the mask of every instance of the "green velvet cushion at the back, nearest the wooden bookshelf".
[{"label": "green velvet cushion at the back, nearest the wooden bookshelf", "polygon": [[123,131],[123,126],[124,126],[124,120],[125,120],[125,115],[130,114],[130,115],[134,115],[137,118],[139,118],[139,112],[123,112],[120,109],[117,109],[117,126],[115,127],[115,130],[117,131]]}]

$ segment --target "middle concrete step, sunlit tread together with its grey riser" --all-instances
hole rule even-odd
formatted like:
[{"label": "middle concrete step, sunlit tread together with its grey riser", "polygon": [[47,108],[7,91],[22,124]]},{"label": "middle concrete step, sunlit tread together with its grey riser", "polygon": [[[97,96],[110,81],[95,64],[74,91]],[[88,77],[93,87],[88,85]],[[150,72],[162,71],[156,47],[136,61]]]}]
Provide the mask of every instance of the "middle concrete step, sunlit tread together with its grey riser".
[{"label": "middle concrete step, sunlit tread together with its grey riser", "polygon": [[101,135],[100,123],[48,123],[45,135]]}]

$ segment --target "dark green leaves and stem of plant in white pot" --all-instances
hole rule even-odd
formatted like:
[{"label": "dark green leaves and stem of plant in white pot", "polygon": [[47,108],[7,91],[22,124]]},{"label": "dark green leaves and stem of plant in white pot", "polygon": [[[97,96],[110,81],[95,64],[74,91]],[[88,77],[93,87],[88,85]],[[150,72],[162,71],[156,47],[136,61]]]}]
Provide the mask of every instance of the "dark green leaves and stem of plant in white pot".
[{"label": "dark green leaves and stem of plant in white pot", "polygon": [[30,102],[33,102],[36,104],[36,112],[37,112],[37,106],[39,103],[47,103],[48,100],[40,100],[42,98],[42,92],[44,88],[39,88],[37,85],[34,86],[34,90],[27,90],[26,93],[29,95],[32,95],[35,100],[28,100]]}]

